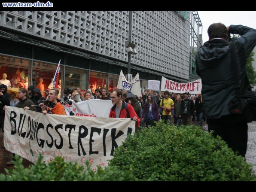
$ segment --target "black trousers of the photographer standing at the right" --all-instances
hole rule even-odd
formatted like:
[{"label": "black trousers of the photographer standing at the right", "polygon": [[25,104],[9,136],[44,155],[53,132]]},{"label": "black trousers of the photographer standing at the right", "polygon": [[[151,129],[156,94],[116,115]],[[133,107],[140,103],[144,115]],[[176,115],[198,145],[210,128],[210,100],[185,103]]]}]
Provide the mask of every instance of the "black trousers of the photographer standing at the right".
[{"label": "black trousers of the photographer standing at the right", "polygon": [[219,119],[206,119],[208,131],[214,131],[213,136],[219,135],[234,152],[245,157],[247,150],[248,125],[238,122],[233,115],[222,116]]}]

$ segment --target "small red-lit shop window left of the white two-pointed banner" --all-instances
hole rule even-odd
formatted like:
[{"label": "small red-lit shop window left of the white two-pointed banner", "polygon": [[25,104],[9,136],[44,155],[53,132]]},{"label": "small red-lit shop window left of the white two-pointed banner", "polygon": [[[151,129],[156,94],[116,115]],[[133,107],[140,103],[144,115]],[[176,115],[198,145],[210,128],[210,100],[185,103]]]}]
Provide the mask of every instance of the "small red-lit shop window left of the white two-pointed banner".
[{"label": "small red-lit shop window left of the white two-pointed banner", "polygon": [[89,88],[94,93],[97,88],[108,87],[108,74],[90,71]]}]

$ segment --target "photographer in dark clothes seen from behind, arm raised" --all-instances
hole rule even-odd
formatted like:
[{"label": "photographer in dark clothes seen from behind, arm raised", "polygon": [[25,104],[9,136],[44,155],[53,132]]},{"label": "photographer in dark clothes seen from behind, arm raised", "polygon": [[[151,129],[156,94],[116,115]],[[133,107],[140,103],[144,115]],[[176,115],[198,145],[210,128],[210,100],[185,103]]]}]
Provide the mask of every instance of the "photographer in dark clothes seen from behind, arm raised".
[{"label": "photographer in dark clothes seen from behind, arm raised", "polygon": [[196,55],[196,73],[202,79],[203,109],[207,118],[208,131],[219,135],[238,155],[245,157],[247,151],[247,122],[238,121],[229,111],[229,103],[235,98],[231,52],[228,34],[241,37],[234,42],[235,60],[240,80],[240,91],[246,92],[246,59],[256,45],[256,30],[243,25],[213,23],[208,30],[209,41],[204,43]]}]

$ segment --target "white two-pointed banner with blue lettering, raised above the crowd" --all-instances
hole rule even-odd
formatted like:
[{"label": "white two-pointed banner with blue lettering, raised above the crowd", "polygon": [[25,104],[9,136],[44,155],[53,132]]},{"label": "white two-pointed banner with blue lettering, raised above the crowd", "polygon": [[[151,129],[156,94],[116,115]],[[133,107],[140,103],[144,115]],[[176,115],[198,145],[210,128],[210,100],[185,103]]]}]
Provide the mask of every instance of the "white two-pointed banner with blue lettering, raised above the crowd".
[{"label": "white two-pointed banner with blue lettering, raised above the crowd", "polygon": [[119,80],[117,84],[117,88],[121,88],[123,90],[129,90],[133,94],[137,95],[138,97],[142,97],[141,95],[141,88],[140,88],[140,78],[139,73],[132,79],[131,82],[128,82],[125,78],[124,73],[122,70],[120,71]]}]

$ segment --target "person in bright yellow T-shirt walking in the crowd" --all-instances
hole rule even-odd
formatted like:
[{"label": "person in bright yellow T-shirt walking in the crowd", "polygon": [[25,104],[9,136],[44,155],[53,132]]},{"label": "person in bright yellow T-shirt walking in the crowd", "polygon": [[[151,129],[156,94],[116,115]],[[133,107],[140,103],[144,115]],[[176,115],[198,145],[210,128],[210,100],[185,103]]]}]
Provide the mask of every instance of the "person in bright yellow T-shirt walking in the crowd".
[{"label": "person in bright yellow T-shirt walking in the crowd", "polygon": [[174,101],[171,98],[169,98],[169,91],[165,91],[164,95],[165,98],[161,100],[159,107],[163,109],[162,119],[165,120],[165,124],[167,123],[168,120],[170,121],[171,124],[171,110],[174,109]]}]

